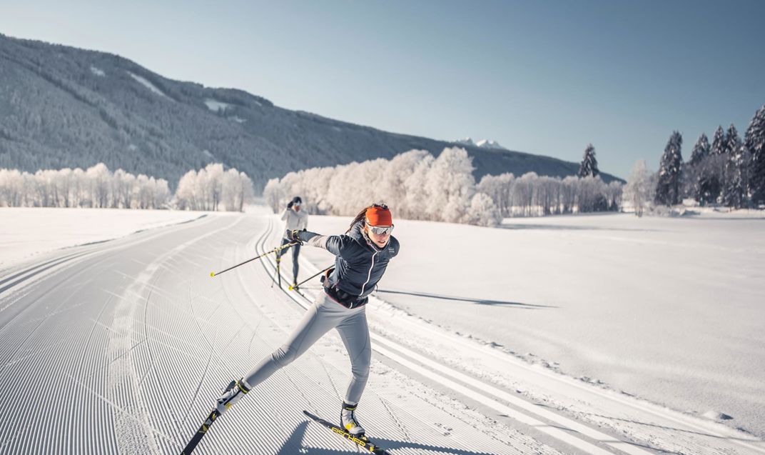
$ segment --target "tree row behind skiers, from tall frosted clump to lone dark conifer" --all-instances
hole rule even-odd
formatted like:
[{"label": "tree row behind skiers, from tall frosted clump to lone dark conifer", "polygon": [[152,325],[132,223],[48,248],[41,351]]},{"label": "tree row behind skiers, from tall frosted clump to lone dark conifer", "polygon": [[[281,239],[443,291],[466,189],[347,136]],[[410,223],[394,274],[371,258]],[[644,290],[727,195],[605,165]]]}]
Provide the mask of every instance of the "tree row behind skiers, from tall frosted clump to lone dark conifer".
[{"label": "tree row behind skiers, from tall frosted clump to lone dark conifer", "polygon": [[476,183],[464,149],[444,149],[438,158],[426,150],[410,150],[392,159],[290,172],[269,180],[263,196],[275,212],[300,195],[304,209],[313,214],[352,215],[383,201],[399,218],[482,226],[511,216],[618,210],[621,184],[597,177],[591,146],[584,160],[587,170],[581,177],[528,172],[516,178],[505,173],[484,175]]}]

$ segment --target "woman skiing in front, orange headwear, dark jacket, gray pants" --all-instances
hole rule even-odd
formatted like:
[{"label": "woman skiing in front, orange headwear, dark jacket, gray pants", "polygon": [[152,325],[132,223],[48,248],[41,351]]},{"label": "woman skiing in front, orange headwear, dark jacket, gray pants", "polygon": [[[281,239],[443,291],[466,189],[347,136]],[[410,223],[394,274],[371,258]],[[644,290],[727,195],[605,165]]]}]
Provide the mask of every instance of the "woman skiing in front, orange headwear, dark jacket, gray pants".
[{"label": "woman skiing in front, orange headwear, dark jacket, gray pants", "polygon": [[220,414],[276,370],[298,358],[330,329],[337,329],[348,350],[353,374],[340,411],[340,424],[354,436],[364,434],[354,411],[369,376],[372,355],[366,301],[389,260],[399,253],[399,241],[391,236],[392,230],[392,216],[386,205],[370,205],[356,215],[344,235],[324,236],[297,230],[287,233],[290,241],[305,242],[334,254],[334,269],[327,272],[324,292],[317,296],[284,345],[263,358],[246,377],[233,381],[218,398]]}]

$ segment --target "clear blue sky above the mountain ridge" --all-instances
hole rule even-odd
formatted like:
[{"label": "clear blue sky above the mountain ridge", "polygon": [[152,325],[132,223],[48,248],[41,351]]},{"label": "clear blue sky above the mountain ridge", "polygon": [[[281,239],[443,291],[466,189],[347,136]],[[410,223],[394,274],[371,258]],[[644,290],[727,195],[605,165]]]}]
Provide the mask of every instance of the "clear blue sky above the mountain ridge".
[{"label": "clear blue sky above the mountain ridge", "polygon": [[434,139],[495,139],[626,178],[669,134],[743,136],[765,104],[765,2],[0,3],[0,33]]}]

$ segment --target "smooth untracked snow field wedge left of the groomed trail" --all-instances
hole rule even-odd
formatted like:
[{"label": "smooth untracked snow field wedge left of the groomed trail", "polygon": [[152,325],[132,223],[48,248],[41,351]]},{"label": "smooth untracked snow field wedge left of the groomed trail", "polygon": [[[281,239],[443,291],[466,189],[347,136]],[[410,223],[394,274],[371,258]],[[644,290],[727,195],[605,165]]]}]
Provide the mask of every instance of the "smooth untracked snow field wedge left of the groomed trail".
[{"label": "smooth untracked snow field wedge left of the groomed trail", "polygon": [[0,269],[57,248],[106,241],[205,214],[112,208],[0,208]]}]

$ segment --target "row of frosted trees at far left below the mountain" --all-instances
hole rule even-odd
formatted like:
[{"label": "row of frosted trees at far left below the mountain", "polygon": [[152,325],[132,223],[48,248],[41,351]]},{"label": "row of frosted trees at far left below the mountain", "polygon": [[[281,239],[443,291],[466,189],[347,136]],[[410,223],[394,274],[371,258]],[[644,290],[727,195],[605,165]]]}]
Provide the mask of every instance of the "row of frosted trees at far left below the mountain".
[{"label": "row of frosted trees at far left below the mountain", "polygon": [[0,169],[0,207],[83,207],[242,211],[252,201],[244,172],[210,163],[190,170],[173,194],[164,178],[111,172],[103,163],[83,170],[44,169],[31,174]]}]

